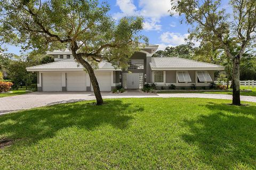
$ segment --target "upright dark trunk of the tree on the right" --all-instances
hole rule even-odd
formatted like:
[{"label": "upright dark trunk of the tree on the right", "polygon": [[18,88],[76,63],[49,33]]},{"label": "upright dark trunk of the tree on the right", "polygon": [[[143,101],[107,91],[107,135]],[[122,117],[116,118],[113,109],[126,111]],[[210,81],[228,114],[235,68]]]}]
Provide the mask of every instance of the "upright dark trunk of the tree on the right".
[{"label": "upright dark trunk of the tree on the right", "polygon": [[233,59],[233,77],[232,77],[232,86],[233,86],[233,105],[240,106],[240,74],[239,74],[239,64],[240,57],[236,56]]}]

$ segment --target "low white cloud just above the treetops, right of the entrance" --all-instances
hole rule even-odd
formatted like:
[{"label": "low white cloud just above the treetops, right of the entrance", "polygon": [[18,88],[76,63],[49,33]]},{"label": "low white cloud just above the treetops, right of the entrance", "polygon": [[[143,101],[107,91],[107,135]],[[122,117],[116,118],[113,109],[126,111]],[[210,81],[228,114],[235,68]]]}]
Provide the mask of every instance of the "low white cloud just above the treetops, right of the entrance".
[{"label": "low white cloud just above the treetops, right of the entrance", "polygon": [[181,34],[178,32],[164,32],[160,36],[160,39],[162,43],[168,43],[173,46],[181,45],[181,44],[186,44],[185,38],[188,38],[188,33]]}]

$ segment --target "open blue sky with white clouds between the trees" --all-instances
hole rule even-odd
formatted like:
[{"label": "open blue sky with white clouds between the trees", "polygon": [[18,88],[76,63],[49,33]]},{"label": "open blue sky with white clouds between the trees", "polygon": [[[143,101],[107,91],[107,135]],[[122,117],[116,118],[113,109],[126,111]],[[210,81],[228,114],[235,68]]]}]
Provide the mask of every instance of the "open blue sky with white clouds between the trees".
[{"label": "open blue sky with white clouds between the trees", "polygon": [[[100,0],[101,1],[101,0]],[[186,44],[189,25],[180,23],[180,16],[170,16],[170,0],[111,0],[110,15],[119,20],[127,15],[139,15],[145,19],[142,35],[149,38],[149,44],[159,45],[159,49],[166,46]],[[198,42],[194,42],[196,46]],[[20,48],[6,46],[8,53],[20,54]]]}]

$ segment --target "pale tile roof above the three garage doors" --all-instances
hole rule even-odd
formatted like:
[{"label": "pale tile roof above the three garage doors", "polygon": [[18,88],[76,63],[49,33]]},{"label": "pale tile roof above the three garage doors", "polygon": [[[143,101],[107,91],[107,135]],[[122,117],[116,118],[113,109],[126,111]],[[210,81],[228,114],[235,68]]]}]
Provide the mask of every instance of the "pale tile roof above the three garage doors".
[{"label": "pale tile roof above the three garage doors", "polygon": [[[62,60],[62,61],[59,61],[59,62],[53,62],[53,63],[48,63],[48,64],[42,64],[42,65],[36,65],[36,66],[31,66],[31,67],[27,67],[27,70],[30,71],[30,70],[44,70],[44,69],[47,69],[47,70],[52,70],[52,69],[58,69],[58,70],[66,70],[66,69],[69,69],[69,70],[83,70],[84,67],[75,62],[74,58],[71,58],[71,59],[67,59],[67,60]],[[102,61],[99,63],[99,70],[100,69],[114,69],[114,67],[112,66],[111,63],[108,63],[108,62],[105,62],[105,61]]]}]

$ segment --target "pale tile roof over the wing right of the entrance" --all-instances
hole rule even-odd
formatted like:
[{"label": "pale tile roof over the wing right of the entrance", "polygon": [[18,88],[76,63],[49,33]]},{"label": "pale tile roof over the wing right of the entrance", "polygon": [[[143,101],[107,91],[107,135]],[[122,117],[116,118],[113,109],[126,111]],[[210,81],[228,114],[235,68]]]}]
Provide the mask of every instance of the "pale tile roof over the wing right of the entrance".
[{"label": "pale tile roof over the wing right of the entrance", "polygon": [[175,68],[193,68],[193,69],[220,69],[224,67],[216,64],[197,62],[179,57],[152,57],[150,63],[151,69],[175,69]]}]

